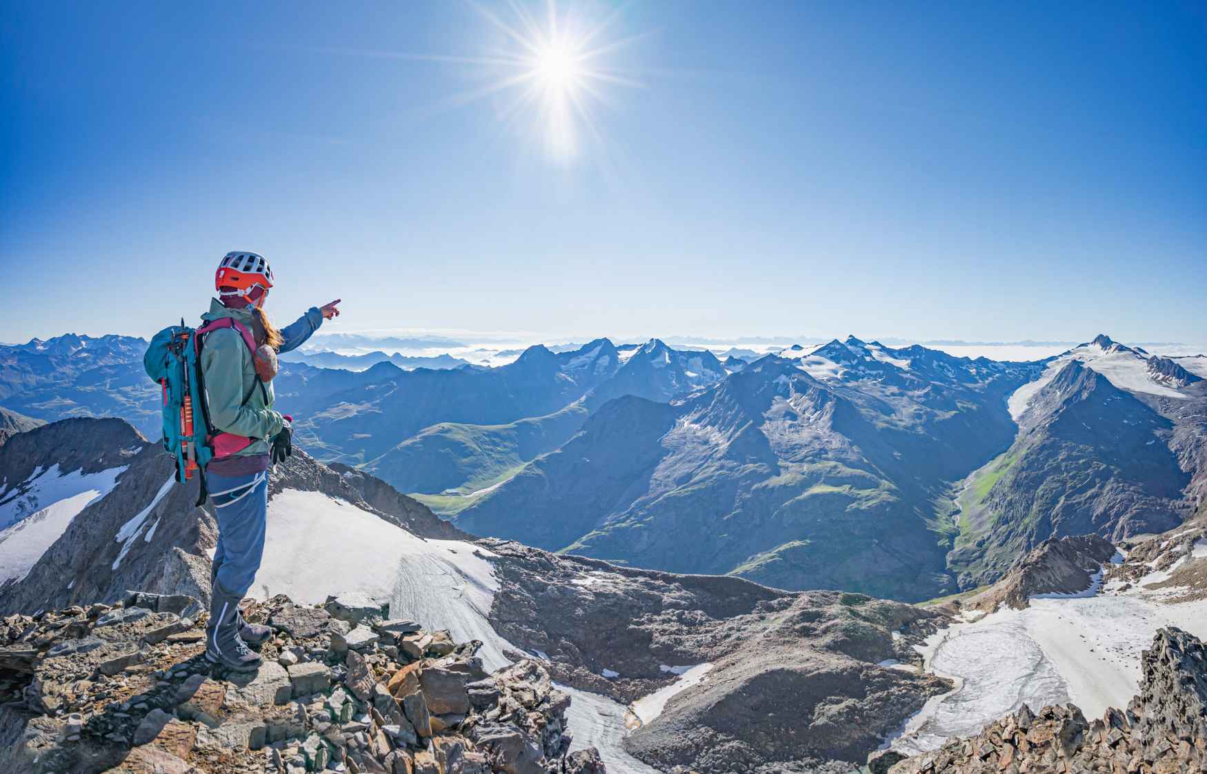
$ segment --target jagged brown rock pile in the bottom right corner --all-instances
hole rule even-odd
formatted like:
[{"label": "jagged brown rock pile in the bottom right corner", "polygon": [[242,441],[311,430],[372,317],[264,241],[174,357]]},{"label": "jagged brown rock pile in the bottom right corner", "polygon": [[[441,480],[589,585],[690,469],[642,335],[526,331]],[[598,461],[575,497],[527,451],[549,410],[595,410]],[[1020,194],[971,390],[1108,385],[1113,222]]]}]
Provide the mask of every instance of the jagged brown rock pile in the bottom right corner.
[{"label": "jagged brown rock pile in the bottom right corner", "polygon": [[1141,692],[1126,711],[1086,722],[1081,710],[1024,706],[970,739],[892,766],[890,774],[984,772],[1207,770],[1207,648],[1195,636],[1160,629],[1142,657]]}]

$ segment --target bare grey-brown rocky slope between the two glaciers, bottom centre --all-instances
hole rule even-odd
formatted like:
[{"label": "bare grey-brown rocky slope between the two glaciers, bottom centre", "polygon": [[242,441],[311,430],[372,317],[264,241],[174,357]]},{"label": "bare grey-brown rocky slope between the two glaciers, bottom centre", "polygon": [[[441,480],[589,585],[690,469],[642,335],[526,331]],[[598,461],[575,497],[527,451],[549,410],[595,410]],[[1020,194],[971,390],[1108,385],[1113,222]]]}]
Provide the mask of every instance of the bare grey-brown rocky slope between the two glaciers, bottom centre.
[{"label": "bare grey-brown rocky slope between the two glaciers, bottom centre", "polygon": [[560,682],[628,703],[675,682],[670,668],[712,665],[651,722],[631,718],[625,749],[659,770],[845,774],[950,689],[893,667],[916,662],[911,645],[946,621],[933,610],[482,545],[500,580],[491,624],[548,656]]}]

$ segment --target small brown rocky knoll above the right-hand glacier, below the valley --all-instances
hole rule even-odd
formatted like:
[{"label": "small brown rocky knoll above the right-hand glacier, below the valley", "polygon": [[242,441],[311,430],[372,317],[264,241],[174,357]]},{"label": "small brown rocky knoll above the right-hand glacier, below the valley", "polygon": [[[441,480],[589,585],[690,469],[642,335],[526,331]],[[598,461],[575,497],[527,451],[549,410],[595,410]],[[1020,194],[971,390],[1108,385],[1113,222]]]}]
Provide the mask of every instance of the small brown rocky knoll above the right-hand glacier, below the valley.
[{"label": "small brown rocky knoll above the right-hand glacier, below the valley", "polygon": [[1102,578],[1102,564],[1115,547],[1097,535],[1049,537],[1019,559],[1001,581],[961,606],[993,612],[1002,605],[1022,610],[1036,594],[1078,594]]}]

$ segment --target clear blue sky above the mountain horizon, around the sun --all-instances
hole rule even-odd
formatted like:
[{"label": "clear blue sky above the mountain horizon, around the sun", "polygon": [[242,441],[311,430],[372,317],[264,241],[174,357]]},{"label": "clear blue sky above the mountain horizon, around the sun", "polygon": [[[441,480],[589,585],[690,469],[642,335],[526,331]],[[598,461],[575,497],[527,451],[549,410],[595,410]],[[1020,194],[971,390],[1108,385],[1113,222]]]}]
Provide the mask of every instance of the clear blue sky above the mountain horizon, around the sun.
[{"label": "clear blue sky above the mountain horizon, around the sun", "polygon": [[0,341],[251,249],[344,330],[1207,342],[1207,5],[558,13],[624,81],[561,155],[507,5],[5,0]]}]

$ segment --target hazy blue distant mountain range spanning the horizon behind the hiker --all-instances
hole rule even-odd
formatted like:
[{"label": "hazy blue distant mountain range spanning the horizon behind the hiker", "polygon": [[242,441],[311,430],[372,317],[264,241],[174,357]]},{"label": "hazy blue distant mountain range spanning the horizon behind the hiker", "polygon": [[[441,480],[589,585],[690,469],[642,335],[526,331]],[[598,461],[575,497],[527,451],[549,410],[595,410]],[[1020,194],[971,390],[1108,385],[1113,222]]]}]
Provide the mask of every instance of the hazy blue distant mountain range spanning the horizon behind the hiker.
[{"label": "hazy blue distant mountain range spanning the horizon behind the hiker", "polygon": [[[154,437],[142,347],[0,348],[6,421]],[[468,533],[792,589],[968,590],[1049,536],[1168,529],[1207,488],[1205,357],[1106,336],[1032,362],[853,336],[742,355],[596,339],[495,368],[285,362],[274,386],[302,448]]]}]

